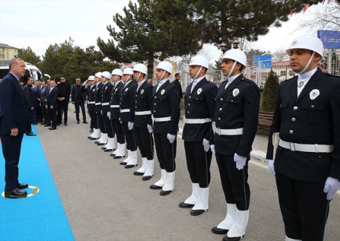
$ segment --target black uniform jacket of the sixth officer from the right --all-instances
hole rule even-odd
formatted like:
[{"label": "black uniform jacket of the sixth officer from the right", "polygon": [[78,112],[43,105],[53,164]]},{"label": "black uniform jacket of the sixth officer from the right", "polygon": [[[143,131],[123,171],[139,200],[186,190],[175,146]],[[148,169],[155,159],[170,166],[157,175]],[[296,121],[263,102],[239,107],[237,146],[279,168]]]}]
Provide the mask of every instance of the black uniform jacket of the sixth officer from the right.
[{"label": "black uniform jacket of the sixth officer from the right", "polygon": [[129,109],[129,112],[120,113],[120,121],[124,123],[135,121],[135,83],[133,80],[130,81],[120,93],[120,109]]}]

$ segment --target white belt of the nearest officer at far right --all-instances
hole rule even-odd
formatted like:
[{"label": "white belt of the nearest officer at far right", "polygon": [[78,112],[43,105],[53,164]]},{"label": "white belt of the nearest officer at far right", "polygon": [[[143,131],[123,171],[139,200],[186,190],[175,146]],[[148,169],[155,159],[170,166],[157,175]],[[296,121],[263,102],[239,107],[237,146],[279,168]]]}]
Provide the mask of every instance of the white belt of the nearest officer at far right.
[{"label": "white belt of the nearest officer at far right", "polygon": [[290,149],[290,151],[303,151],[306,153],[331,153],[333,151],[333,145],[297,144],[294,142],[285,142],[282,139],[280,139],[278,145]]}]

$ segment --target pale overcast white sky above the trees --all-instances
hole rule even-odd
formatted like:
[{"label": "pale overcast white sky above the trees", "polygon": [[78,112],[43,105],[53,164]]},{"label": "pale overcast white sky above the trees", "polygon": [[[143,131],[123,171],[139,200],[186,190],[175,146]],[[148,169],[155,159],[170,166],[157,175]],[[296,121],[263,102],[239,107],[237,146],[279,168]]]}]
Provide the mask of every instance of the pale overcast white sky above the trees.
[{"label": "pale overcast white sky above the trees", "polygon": [[[129,0],[0,0],[0,43],[16,48],[30,46],[40,57],[50,44],[61,44],[69,37],[74,46],[97,46],[98,37],[111,39],[106,26],[115,26],[113,15],[122,15],[128,3]],[[285,50],[299,35],[316,35],[306,30],[294,31],[306,13],[293,15],[281,28],[270,28],[267,35],[247,44],[247,48],[277,52]]]}]

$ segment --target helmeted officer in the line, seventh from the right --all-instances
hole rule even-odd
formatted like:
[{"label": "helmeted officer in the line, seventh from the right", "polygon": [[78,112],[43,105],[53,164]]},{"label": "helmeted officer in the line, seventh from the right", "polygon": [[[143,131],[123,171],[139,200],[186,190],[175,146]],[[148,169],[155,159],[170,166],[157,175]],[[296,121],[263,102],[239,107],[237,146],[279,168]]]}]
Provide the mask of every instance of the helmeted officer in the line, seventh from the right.
[{"label": "helmeted officer in the line, seventh from the right", "polygon": [[115,68],[111,73],[111,79],[114,87],[110,99],[110,111],[107,113],[108,119],[111,119],[113,124],[113,131],[117,136],[117,150],[113,151],[110,155],[113,159],[119,159],[125,156],[125,138],[123,133],[123,126],[120,123],[120,92],[124,87],[122,83],[122,70]]}]

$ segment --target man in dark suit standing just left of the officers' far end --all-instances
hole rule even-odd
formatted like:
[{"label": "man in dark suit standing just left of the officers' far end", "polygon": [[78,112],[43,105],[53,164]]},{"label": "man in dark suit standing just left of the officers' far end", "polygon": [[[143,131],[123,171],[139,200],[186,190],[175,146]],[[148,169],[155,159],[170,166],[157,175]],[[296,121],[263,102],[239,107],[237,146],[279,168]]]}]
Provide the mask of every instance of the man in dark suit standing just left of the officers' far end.
[{"label": "man in dark suit standing just left of the officers' far end", "polygon": [[71,90],[71,101],[75,105],[75,119],[77,119],[77,124],[79,124],[79,106],[82,108],[83,123],[86,122],[85,104],[86,104],[86,94],[82,91],[82,85],[80,78],[75,79],[75,85],[72,86]]}]

